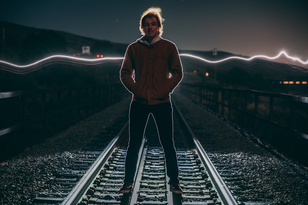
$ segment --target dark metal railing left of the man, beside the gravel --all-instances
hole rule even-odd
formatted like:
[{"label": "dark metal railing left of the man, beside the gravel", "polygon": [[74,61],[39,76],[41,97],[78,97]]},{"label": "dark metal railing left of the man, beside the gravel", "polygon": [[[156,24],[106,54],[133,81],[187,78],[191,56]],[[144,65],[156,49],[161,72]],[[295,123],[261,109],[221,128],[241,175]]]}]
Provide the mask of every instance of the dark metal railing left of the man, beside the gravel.
[{"label": "dark metal railing left of the man, beside the gravel", "polygon": [[0,160],[23,152],[129,94],[119,83],[0,93]]}]

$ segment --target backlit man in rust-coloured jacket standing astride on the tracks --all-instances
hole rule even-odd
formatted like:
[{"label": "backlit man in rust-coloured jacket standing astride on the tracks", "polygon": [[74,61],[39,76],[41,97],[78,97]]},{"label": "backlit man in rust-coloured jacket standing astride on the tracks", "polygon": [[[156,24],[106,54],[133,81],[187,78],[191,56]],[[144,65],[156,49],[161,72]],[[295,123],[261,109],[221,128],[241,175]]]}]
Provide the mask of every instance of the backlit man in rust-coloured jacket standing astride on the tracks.
[{"label": "backlit man in rust-coloured jacket standing astride on the tracks", "polygon": [[133,189],[138,153],[148,116],[152,113],[164,150],[170,191],[182,194],[179,168],[173,141],[173,119],[170,93],[180,83],[183,69],[176,45],[161,38],[160,8],[149,8],[140,19],[144,36],[128,46],[120,70],[123,85],[131,92],[129,110],[129,143],[125,157],[124,184],[120,193]]}]

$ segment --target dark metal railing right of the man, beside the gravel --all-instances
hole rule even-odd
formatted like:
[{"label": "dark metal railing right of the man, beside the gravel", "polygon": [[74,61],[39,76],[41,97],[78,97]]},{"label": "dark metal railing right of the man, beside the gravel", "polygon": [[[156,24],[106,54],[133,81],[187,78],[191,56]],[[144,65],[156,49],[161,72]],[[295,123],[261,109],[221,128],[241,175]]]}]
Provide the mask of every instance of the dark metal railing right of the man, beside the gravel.
[{"label": "dark metal railing right of the man, beside the gravel", "polygon": [[308,97],[188,83],[180,91],[308,165]]}]

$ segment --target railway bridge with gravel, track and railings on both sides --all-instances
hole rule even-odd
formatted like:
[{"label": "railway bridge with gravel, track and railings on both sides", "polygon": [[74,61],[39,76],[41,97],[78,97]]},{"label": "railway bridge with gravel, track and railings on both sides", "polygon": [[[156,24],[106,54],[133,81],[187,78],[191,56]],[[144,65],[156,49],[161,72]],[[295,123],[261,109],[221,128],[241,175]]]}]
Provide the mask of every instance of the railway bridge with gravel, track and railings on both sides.
[{"label": "railway bridge with gravel, track and railings on both sides", "polygon": [[184,193],[168,191],[150,117],[134,191],[119,194],[123,85],[0,93],[2,204],[307,203],[307,97],[181,83],[171,99]]}]

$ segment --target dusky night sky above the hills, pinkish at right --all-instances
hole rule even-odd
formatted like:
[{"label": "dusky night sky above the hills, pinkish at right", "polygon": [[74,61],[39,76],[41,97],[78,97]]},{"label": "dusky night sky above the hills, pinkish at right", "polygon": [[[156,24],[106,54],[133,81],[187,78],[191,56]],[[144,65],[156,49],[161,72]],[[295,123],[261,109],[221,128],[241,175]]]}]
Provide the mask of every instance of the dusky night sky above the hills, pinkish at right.
[{"label": "dusky night sky above the hills, pinkish at right", "polygon": [[285,50],[308,60],[304,0],[1,0],[0,20],[130,44],[141,37],[140,15],[162,9],[163,38],[181,50],[217,48],[247,56]]}]

